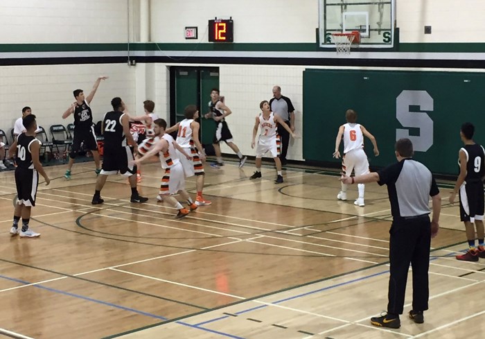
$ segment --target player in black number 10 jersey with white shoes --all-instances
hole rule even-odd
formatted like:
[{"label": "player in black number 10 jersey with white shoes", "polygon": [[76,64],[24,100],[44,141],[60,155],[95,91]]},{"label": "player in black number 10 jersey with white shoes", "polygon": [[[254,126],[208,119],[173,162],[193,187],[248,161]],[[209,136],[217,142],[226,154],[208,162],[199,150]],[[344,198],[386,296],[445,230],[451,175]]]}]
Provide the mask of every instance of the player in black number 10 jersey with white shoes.
[{"label": "player in black number 10 jersey with white shoes", "polygon": [[[35,115],[28,114],[24,118],[26,132],[21,133],[14,140],[8,153],[10,157],[17,155],[17,168],[15,168],[15,185],[17,186],[17,204],[13,212],[13,225],[10,229],[12,236],[20,235],[21,238],[37,238],[40,233],[28,228],[30,220],[30,210],[35,206],[35,195],[37,195],[37,185],[39,174],[46,180],[48,185],[51,180],[48,178],[39,161],[39,150],[41,142],[35,138],[37,122]],[[19,231],[19,220],[22,218],[22,225]]]}]

